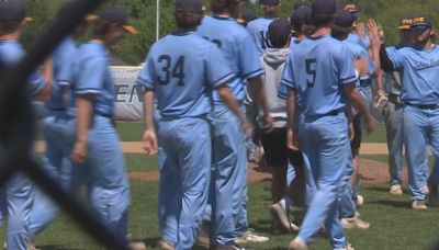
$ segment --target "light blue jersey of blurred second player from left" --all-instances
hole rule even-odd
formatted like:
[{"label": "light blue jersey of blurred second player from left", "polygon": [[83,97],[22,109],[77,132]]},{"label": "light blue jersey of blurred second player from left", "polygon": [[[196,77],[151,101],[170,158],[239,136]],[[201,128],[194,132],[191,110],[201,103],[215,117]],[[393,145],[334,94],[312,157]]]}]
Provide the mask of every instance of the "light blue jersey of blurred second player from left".
[{"label": "light blue jersey of blurred second player from left", "polygon": [[60,95],[60,88],[67,87],[71,82],[72,60],[77,45],[74,38],[66,37],[53,54],[54,82],[50,99],[46,102],[46,107],[53,111],[65,110],[65,104]]}]

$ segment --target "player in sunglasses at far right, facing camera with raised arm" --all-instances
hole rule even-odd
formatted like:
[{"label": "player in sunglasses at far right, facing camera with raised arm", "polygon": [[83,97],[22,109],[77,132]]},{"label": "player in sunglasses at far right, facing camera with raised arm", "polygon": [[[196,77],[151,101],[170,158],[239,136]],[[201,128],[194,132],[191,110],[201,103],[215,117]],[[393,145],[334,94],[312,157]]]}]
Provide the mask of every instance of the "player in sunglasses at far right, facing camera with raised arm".
[{"label": "player in sunglasses at far right, facing camera with raised arm", "polygon": [[[374,26],[376,30],[378,27]],[[410,24],[414,45],[397,50],[385,50],[381,45],[380,59],[385,71],[404,71],[401,86],[401,101],[404,102],[404,145],[408,164],[408,190],[412,208],[428,209],[425,203],[424,185],[426,147],[429,144],[436,158],[439,155],[439,106],[436,76],[439,48],[435,44],[431,21],[425,15],[413,19]],[[376,31],[374,31],[376,32]],[[387,54],[389,53],[389,54]],[[429,183],[436,184],[438,166],[435,161]]]}]

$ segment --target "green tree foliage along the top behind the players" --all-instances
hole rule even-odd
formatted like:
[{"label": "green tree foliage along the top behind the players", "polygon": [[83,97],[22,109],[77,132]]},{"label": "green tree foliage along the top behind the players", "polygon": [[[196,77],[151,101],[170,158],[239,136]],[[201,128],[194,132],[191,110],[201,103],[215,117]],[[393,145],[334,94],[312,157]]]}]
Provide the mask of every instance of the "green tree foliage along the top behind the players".
[{"label": "green tree foliage along the top behind the players", "polygon": [[[209,13],[209,0],[203,0]],[[295,1],[281,0],[281,18],[289,18]],[[360,11],[360,19],[367,21],[374,18],[382,24],[386,34],[386,43],[397,43],[396,26],[401,18],[425,13],[439,25],[439,1],[438,0],[353,0]],[[42,34],[45,27],[55,19],[55,14],[61,0],[26,0],[29,15],[34,19],[30,24],[23,42],[32,44]],[[160,37],[176,29],[173,21],[175,0],[160,0]],[[112,48],[112,53],[133,65],[143,63],[149,47],[156,41],[156,0],[110,0],[105,5],[124,7],[130,13],[133,25],[139,34],[126,36],[120,44]],[[245,8],[258,7],[246,4]],[[439,31],[439,30],[438,30]]]}]

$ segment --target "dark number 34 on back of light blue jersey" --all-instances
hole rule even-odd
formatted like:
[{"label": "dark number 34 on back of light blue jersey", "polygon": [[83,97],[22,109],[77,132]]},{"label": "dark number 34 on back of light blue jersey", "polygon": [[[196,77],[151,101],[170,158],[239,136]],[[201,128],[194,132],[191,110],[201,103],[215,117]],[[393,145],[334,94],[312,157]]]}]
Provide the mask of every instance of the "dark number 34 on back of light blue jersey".
[{"label": "dark number 34 on back of light blue jersey", "polygon": [[162,86],[169,84],[171,78],[176,78],[177,86],[184,86],[184,56],[179,56],[176,64],[172,65],[172,59],[169,55],[158,57],[158,64],[161,67],[161,76],[157,76],[158,83]]}]

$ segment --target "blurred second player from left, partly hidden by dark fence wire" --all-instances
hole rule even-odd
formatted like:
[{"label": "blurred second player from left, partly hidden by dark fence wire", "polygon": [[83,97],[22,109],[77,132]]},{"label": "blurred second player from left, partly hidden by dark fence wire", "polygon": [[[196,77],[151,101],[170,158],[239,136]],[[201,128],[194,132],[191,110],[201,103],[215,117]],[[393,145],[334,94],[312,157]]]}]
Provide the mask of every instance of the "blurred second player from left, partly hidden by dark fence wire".
[{"label": "blurred second player from left, partly hidden by dark fence wire", "polygon": [[[63,5],[57,16],[61,18],[70,10],[71,2]],[[88,21],[93,16],[89,15]],[[76,39],[83,36],[88,22],[83,21],[67,36],[53,53],[54,84],[49,100],[46,103],[48,116],[44,118],[43,132],[46,151],[43,156],[43,166],[47,173],[57,180],[68,191],[74,191],[78,185],[78,177],[83,168],[72,168],[70,162],[71,143],[68,121],[71,118],[66,113],[69,106],[69,86],[71,82],[71,66],[77,52]],[[59,213],[58,207],[40,190],[35,192],[38,202],[33,204],[30,230],[35,237]]]}]

